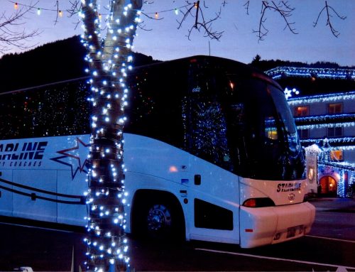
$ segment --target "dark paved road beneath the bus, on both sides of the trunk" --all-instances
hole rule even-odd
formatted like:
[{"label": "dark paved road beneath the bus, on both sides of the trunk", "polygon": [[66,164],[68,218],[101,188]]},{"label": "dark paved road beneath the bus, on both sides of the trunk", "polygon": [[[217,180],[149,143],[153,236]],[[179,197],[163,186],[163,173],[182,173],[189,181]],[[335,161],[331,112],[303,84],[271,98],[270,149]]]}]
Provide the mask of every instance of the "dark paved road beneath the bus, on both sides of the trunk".
[{"label": "dark paved road beneath the bus, on both sides of the trunk", "polygon": [[[312,236],[257,249],[198,241],[131,240],[131,266],[135,271],[355,271],[355,205],[353,200],[346,201],[313,200],[317,218]],[[86,250],[81,232],[0,224],[0,233],[0,271],[19,266],[70,271],[72,250],[77,262]]]}]

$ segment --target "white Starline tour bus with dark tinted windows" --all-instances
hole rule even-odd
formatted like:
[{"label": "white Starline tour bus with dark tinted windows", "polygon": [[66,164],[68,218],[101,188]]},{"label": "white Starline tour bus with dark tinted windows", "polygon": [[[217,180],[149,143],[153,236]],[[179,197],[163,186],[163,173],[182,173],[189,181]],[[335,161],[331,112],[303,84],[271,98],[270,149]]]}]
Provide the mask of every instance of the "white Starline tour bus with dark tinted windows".
[{"label": "white Starline tour bus with dark tinted windows", "polygon": [[[310,232],[305,161],[280,86],[207,56],[137,67],[129,79],[126,232],[275,244]],[[0,94],[0,215],[84,226],[84,80]]]}]

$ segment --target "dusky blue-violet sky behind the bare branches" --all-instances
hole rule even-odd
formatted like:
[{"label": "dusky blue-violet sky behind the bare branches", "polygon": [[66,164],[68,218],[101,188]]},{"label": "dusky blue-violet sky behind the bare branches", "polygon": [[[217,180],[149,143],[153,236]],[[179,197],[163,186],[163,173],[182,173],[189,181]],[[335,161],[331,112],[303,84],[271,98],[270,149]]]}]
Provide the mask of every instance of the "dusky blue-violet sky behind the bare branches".
[{"label": "dusky blue-violet sky behind the bare branches", "polygon": [[[21,4],[30,4],[34,1],[18,1]],[[37,1],[36,1],[37,2]],[[26,31],[38,29],[40,36],[28,40],[28,45],[41,45],[53,42],[58,39],[68,38],[80,34],[80,26],[75,28],[77,16],[68,18],[65,11],[68,8],[69,0],[60,0],[59,9],[64,11],[63,16],[56,18],[56,1],[39,0],[33,12],[26,15],[23,25],[19,29],[26,28]],[[98,1],[100,2],[100,1]],[[105,3],[106,1],[101,1]],[[201,1],[205,6],[204,16],[208,20],[221,8],[219,20],[212,25],[215,31],[224,31],[222,38],[209,40],[204,38],[204,33],[192,32],[190,40],[187,39],[187,29],[194,23],[194,18],[185,21],[181,29],[178,28],[177,20],[181,20],[182,13],[175,14],[174,9],[186,4],[183,0],[154,0],[148,1],[153,4],[144,4],[143,12],[154,17],[158,12],[161,20],[153,20],[141,16],[144,21],[144,28],[148,31],[138,29],[138,36],[134,41],[136,52],[151,55],[157,60],[172,60],[175,58],[187,57],[190,55],[217,55],[224,58],[231,58],[241,62],[249,63],[256,54],[261,55],[262,60],[280,59],[301,62],[329,61],[337,62],[339,65],[355,65],[355,1],[353,0],[328,0],[340,16],[346,16],[345,20],[337,18],[332,13],[332,24],[339,31],[339,38],[335,38],[329,27],[326,26],[325,11],[320,16],[318,26],[313,28],[312,24],[325,5],[324,0],[290,0],[288,4],[295,8],[290,22],[298,34],[293,34],[285,28],[285,21],[278,13],[268,11],[266,14],[266,27],[269,30],[265,40],[259,41],[253,30],[258,28],[261,14],[261,1],[249,1],[249,15],[247,14],[246,0],[206,0]],[[226,2],[225,5],[222,3]],[[278,2],[278,1],[276,1]],[[37,8],[42,9],[40,16],[37,15]],[[22,8],[24,8],[22,6]],[[184,10],[184,9],[182,9]],[[13,2],[0,0],[0,11],[9,16],[15,10]],[[165,12],[162,12],[165,11]],[[102,14],[107,13],[104,9]],[[9,50],[9,53],[18,52],[16,48]]]}]

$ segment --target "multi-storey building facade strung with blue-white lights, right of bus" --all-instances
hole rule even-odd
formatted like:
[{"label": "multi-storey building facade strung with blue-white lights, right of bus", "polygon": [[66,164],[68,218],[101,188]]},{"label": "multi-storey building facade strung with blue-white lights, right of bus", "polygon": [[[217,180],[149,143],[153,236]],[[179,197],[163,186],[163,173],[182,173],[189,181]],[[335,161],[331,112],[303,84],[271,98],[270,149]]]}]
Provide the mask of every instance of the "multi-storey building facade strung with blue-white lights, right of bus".
[{"label": "multi-storey building facade strung with blue-white lights, right of bus", "polygon": [[[307,165],[307,178],[310,183],[315,178],[316,183],[310,192],[354,197],[355,87],[350,88],[355,85],[355,70],[278,67],[266,73],[275,80],[282,79],[282,85],[295,84],[297,78],[302,82],[300,89],[285,87],[285,95],[295,116],[307,163],[312,161],[311,156],[316,158],[316,169],[310,170],[312,167]],[[332,80],[332,87],[324,88],[321,94],[314,82],[324,79]],[[334,82],[344,86],[344,81],[346,87],[342,91],[334,89]]]}]

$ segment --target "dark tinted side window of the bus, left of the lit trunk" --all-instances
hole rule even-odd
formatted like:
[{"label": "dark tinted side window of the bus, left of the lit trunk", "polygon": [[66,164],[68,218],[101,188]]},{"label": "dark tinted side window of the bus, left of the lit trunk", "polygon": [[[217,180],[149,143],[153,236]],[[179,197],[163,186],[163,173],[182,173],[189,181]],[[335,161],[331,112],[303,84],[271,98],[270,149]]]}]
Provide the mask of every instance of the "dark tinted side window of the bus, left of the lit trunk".
[{"label": "dark tinted side window of the bus, left of the lit trunk", "polygon": [[0,137],[89,133],[89,87],[80,80],[1,94]]}]

